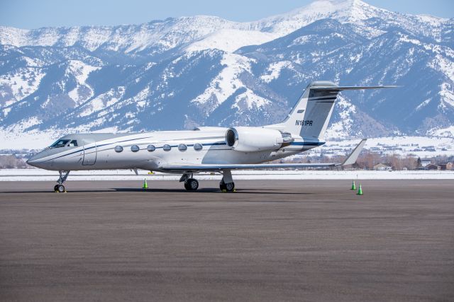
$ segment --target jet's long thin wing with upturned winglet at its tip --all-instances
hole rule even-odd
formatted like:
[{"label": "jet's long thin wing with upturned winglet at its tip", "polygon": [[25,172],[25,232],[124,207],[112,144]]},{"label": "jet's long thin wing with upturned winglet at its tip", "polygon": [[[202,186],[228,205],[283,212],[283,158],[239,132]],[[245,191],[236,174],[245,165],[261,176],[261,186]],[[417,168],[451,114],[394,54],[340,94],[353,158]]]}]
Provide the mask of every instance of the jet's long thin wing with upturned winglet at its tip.
[{"label": "jet's long thin wing with upturned winglet at its tip", "polygon": [[162,170],[181,171],[218,171],[218,170],[248,170],[248,169],[269,169],[269,168],[328,168],[340,165],[352,165],[358,159],[367,139],[362,139],[360,144],[353,149],[343,163],[257,163],[257,164],[194,164],[194,165],[164,165]]}]

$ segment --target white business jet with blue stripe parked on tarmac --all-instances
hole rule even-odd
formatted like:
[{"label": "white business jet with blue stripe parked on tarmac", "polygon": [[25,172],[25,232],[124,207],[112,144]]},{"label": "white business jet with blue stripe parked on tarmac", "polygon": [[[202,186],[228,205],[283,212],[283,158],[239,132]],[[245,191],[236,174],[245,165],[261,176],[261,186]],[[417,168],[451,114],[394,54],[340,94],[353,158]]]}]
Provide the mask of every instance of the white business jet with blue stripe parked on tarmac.
[{"label": "white business jet with blue stripe parked on tarmac", "polygon": [[65,192],[70,170],[137,169],[182,174],[186,190],[199,182],[194,173],[216,172],[221,190],[235,189],[231,170],[268,168],[336,167],[355,163],[363,139],[343,163],[266,164],[325,144],[323,141],[339,91],[396,86],[341,87],[328,81],[307,86],[286,119],[262,127],[198,127],[192,131],[124,134],[68,134],[27,163],[58,170],[54,190]]}]

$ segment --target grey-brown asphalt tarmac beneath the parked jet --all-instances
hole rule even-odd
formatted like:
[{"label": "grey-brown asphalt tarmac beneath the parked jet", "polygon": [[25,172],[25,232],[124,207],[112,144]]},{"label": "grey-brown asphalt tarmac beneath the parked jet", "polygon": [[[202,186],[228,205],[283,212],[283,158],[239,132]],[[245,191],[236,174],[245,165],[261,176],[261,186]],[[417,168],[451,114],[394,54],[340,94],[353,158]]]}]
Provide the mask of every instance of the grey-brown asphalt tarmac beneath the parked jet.
[{"label": "grey-brown asphalt tarmac beneath the parked jet", "polygon": [[454,301],[453,180],[0,182],[0,301]]}]

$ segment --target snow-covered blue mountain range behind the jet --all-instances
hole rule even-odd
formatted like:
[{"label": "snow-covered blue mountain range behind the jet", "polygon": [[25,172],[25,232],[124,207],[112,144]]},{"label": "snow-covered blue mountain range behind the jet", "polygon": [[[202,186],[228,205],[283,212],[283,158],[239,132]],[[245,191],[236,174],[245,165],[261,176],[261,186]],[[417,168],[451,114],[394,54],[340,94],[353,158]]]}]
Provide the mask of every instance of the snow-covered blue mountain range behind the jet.
[{"label": "snow-covered blue mountain range behind the jet", "polygon": [[237,23],[0,27],[0,132],[182,129],[279,122],[307,83],[397,84],[342,93],[329,137],[451,135],[454,20],[320,0]]}]

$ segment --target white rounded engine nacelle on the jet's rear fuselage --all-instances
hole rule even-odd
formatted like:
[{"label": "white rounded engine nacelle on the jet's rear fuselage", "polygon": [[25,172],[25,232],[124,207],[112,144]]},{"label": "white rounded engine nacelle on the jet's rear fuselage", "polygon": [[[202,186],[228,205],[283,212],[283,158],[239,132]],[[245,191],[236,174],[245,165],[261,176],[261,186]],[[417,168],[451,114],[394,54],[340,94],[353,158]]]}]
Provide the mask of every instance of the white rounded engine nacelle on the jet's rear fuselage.
[{"label": "white rounded engine nacelle on the jet's rear fuselage", "polygon": [[292,134],[275,129],[235,127],[226,132],[227,146],[243,152],[277,150],[282,144],[292,141]]}]

